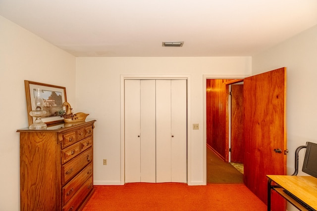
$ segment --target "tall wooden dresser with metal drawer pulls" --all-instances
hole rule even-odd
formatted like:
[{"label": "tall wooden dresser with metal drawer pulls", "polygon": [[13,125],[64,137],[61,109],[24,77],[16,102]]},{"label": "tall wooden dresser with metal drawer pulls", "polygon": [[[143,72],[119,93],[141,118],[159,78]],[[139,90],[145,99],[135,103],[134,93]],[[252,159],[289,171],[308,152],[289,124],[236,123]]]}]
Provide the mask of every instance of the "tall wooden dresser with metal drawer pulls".
[{"label": "tall wooden dresser with metal drawer pulls", "polygon": [[21,211],[81,210],[94,192],[93,121],[20,132]]}]

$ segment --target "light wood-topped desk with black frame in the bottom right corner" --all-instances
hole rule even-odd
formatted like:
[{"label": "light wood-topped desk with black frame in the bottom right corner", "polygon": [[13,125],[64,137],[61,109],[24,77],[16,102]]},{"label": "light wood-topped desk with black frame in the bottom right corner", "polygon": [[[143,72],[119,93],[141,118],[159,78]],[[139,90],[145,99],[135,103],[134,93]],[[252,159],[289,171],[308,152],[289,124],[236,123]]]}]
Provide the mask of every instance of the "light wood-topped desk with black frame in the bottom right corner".
[{"label": "light wood-topped desk with black frame in the bottom right corner", "polygon": [[[317,178],[313,176],[288,176],[288,175],[266,175],[267,183],[267,211],[271,209],[271,190],[276,191],[283,198],[301,211],[310,210],[301,205],[301,202],[309,205],[312,211],[317,210]],[[273,184],[272,184],[273,183]],[[298,200],[290,197],[284,192],[290,192]]]}]

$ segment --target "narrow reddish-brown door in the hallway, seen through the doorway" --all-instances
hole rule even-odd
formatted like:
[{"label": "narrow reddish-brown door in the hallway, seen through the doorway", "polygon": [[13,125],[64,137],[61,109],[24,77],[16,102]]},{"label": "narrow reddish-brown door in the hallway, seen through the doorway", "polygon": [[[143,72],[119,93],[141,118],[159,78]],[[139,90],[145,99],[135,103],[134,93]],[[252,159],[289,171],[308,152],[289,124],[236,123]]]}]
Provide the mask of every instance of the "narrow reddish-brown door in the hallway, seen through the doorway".
[{"label": "narrow reddish-brown door in the hallway, seen through the doorway", "polygon": [[244,115],[243,84],[231,85],[231,162],[243,164]]}]

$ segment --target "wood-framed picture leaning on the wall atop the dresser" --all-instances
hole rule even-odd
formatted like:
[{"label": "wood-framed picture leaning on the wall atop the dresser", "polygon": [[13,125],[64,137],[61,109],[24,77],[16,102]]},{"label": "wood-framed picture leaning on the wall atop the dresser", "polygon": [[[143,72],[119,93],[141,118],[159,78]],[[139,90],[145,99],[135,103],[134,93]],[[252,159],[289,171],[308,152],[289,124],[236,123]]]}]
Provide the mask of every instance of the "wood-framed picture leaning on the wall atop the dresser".
[{"label": "wood-framed picture leaning on the wall atop the dresser", "polygon": [[26,80],[24,81],[24,85],[29,126],[35,121],[35,118],[31,117],[29,113],[35,109],[34,93],[37,88],[42,89],[42,98],[44,101],[43,110],[46,111],[46,116],[41,118],[42,122],[51,125],[64,121],[64,118],[59,115],[63,111],[63,102],[67,101],[65,87]]}]

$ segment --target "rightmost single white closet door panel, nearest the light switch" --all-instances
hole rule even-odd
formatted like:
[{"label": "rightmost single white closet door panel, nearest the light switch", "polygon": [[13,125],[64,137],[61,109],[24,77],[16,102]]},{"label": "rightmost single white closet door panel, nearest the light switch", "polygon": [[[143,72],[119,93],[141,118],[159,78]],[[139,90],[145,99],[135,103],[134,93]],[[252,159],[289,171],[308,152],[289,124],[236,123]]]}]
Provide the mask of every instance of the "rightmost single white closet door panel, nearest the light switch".
[{"label": "rightmost single white closet door panel, nearest the light switch", "polygon": [[187,81],[171,81],[171,182],[187,182]]}]

